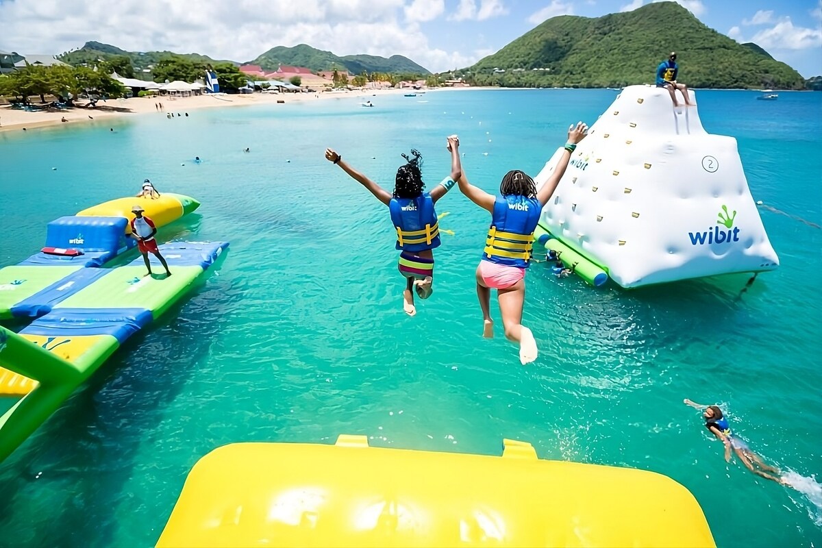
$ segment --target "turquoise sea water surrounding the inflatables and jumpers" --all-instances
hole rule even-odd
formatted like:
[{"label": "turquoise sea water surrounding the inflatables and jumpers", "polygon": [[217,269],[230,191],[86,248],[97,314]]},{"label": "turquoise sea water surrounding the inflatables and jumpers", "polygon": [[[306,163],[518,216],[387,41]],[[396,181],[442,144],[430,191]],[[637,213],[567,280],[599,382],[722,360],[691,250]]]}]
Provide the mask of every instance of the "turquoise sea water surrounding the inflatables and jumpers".
[{"label": "turquoise sea water surrounding the inflatables and jumpers", "polygon": [[[48,221],[145,177],[203,204],[161,239],[231,242],[205,283],[0,465],[0,545],[153,546],[211,449],[347,433],[480,454],[501,454],[507,437],[540,458],[649,469],[696,496],[718,546],[820,546],[822,490],[807,478],[822,470],[822,231],[762,210],[782,266],[741,298],[745,275],[626,292],[534,265],[524,323],[541,354],[523,367],[500,334],[480,336],[487,214],[458,191],[441,201],[455,235],[437,251],[434,295],[406,318],[384,206],[323,158],[333,147],[390,187],[416,147],[432,186],[458,133],[465,172],[492,191],[510,168],[537,173],[568,125],[593,122],[616,94],[429,92],[370,98],[376,108],[343,95],[0,134],[0,265],[43,246]],[[755,200],[822,222],[822,94],[698,100],[708,131],[737,137]],[[727,465],[682,398],[727,405],[807,494]]]}]

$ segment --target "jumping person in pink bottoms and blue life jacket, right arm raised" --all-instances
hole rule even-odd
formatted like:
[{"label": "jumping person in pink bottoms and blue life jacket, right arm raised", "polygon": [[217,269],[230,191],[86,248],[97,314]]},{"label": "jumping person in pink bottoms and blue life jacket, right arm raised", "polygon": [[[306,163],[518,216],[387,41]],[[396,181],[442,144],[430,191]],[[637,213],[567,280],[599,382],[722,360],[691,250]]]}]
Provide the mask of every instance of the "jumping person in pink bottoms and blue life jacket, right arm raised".
[{"label": "jumping person in pink bottoms and blue life jacket, right arm raised", "polygon": [[474,187],[464,176],[457,181],[459,190],[474,204],[491,214],[483,259],[477,267],[477,297],[483,311],[483,337],[494,336],[491,319],[491,290],[496,289],[502,325],[506,338],[520,344],[520,363],[525,365],[537,359],[537,341],[531,329],[522,325],[522,307],[525,300],[525,269],[531,260],[533,231],[539,214],[551,198],[565,173],[570,154],[585,137],[588,126],[579,122],[568,129],[568,141],[551,177],[537,191],[533,179],[519,169],[502,177],[499,194],[492,196]]}]

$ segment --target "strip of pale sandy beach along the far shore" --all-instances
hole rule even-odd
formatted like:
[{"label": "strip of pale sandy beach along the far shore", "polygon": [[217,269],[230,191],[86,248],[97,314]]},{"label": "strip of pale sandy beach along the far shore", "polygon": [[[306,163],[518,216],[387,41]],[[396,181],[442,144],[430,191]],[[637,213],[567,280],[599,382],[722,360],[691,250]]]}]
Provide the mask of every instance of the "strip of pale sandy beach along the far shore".
[{"label": "strip of pale sandy beach along the far shore", "polygon": [[[60,110],[58,112],[35,112],[12,109],[9,105],[0,107],[0,131],[31,131],[43,127],[61,126],[62,124],[77,124],[100,122],[104,120],[120,120],[146,113],[158,113],[157,104],[162,103],[164,113],[185,113],[200,108],[227,108],[248,106],[252,104],[276,104],[284,101],[286,104],[298,102],[321,101],[327,99],[345,98],[349,100],[362,99],[376,100],[375,97],[386,94],[413,93],[413,90],[353,90],[353,91],[323,91],[313,93],[284,93],[284,94],[226,94],[226,95],[195,95],[192,97],[133,97],[132,99],[109,99],[99,101],[97,108],[82,108],[85,101],[78,101],[76,108]],[[39,104],[39,103],[35,103]],[[62,118],[66,122],[62,122]]]}]

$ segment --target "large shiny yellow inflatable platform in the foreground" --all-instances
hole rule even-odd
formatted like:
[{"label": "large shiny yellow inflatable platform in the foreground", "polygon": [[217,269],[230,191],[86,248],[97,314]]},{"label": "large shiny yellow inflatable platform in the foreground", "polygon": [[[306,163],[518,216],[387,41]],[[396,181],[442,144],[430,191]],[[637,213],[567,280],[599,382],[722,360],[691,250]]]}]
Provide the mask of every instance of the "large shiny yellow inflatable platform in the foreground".
[{"label": "large shiny yellow inflatable platform in the foreground", "polygon": [[335,445],[229,444],[189,473],[157,546],[715,546],[693,495],[633,468]]}]

